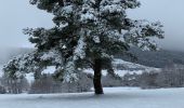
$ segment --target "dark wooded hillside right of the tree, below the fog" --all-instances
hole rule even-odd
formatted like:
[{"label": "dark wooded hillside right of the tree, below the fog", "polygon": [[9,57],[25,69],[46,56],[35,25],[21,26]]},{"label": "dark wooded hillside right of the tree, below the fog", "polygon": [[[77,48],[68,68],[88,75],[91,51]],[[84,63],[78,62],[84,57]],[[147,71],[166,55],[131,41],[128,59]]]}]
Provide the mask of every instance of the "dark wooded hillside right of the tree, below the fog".
[{"label": "dark wooded hillside right of the tree, below the fog", "polygon": [[[170,64],[184,65],[184,52],[168,51],[168,50],[149,52],[149,51],[141,51],[140,49],[135,49],[135,48],[131,49],[130,52],[137,57],[137,60],[135,63],[144,66],[163,68]],[[121,56],[121,55],[119,55],[118,57],[131,62],[129,57]]]}]

